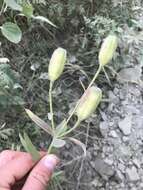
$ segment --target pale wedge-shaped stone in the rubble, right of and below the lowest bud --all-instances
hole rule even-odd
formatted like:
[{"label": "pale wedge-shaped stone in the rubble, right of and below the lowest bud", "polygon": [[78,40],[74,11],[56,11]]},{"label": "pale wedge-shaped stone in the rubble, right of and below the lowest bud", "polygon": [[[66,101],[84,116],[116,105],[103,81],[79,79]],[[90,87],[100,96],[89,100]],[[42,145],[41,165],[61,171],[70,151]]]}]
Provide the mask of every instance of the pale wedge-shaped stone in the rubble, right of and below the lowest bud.
[{"label": "pale wedge-shaped stone in the rubble, right of and below the lowest bud", "polygon": [[120,130],[123,132],[124,135],[130,135],[131,127],[132,127],[132,118],[131,116],[125,117],[122,121],[118,123]]}]

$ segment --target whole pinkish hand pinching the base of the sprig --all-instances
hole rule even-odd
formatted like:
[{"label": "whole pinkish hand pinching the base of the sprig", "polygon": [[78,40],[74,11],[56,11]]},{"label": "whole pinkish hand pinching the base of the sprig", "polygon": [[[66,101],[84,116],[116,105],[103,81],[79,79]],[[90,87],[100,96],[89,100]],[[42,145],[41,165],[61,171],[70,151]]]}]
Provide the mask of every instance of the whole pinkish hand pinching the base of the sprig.
[{"label": "whole pinkish hand pinching the base of the sprig", "polygon": [[0,190],[46,190],[59,159],[44,152],[40,155],[40,161],[35,163],[25,152],[0,153]]}]

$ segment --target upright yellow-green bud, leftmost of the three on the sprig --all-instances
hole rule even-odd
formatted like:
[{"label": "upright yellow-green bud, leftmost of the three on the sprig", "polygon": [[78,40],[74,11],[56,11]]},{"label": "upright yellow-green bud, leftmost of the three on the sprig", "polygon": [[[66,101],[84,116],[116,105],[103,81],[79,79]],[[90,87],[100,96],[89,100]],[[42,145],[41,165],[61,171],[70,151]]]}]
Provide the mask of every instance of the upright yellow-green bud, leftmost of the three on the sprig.
[{"label": "upright yellow-green bud, leftmost of the three on the sprig", "polygon": [[50,81],[57,80],[62,74],[66,62],[67,52],[63,48],[57,48],[52,54],[50,63],[48,76]]}]

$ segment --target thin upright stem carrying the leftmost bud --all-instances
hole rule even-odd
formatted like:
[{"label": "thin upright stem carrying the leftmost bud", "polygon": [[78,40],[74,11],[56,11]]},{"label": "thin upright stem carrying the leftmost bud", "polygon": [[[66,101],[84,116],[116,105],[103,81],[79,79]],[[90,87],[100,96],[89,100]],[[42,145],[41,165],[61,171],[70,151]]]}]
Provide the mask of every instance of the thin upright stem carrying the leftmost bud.
[{"label": "thin upright stem carrying the leftmost bud", "polygon": [[50,114],[51,114],[51,125],[53,132],[55,130],[55,124],[54,124],[54,113],[53,113],[53,103],[52,103],[52,88],[53,88],[53,82],[50,81],[50,88],[49,88],[49,103],[50,103]]}]

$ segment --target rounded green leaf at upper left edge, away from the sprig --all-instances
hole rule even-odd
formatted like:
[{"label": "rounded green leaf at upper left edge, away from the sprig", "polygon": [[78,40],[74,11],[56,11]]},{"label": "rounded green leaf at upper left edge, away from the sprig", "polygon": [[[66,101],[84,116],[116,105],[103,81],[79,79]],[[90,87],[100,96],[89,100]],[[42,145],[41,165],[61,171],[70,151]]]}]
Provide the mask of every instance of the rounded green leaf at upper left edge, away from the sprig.
[{"label": "rounded green leaf at upper left edge, away from the sprig", "polygon": [[11,42],[17,44],[22,38],[22,32],[19,26],[12,22],[6,22],[1,26],[2,34]]}]

